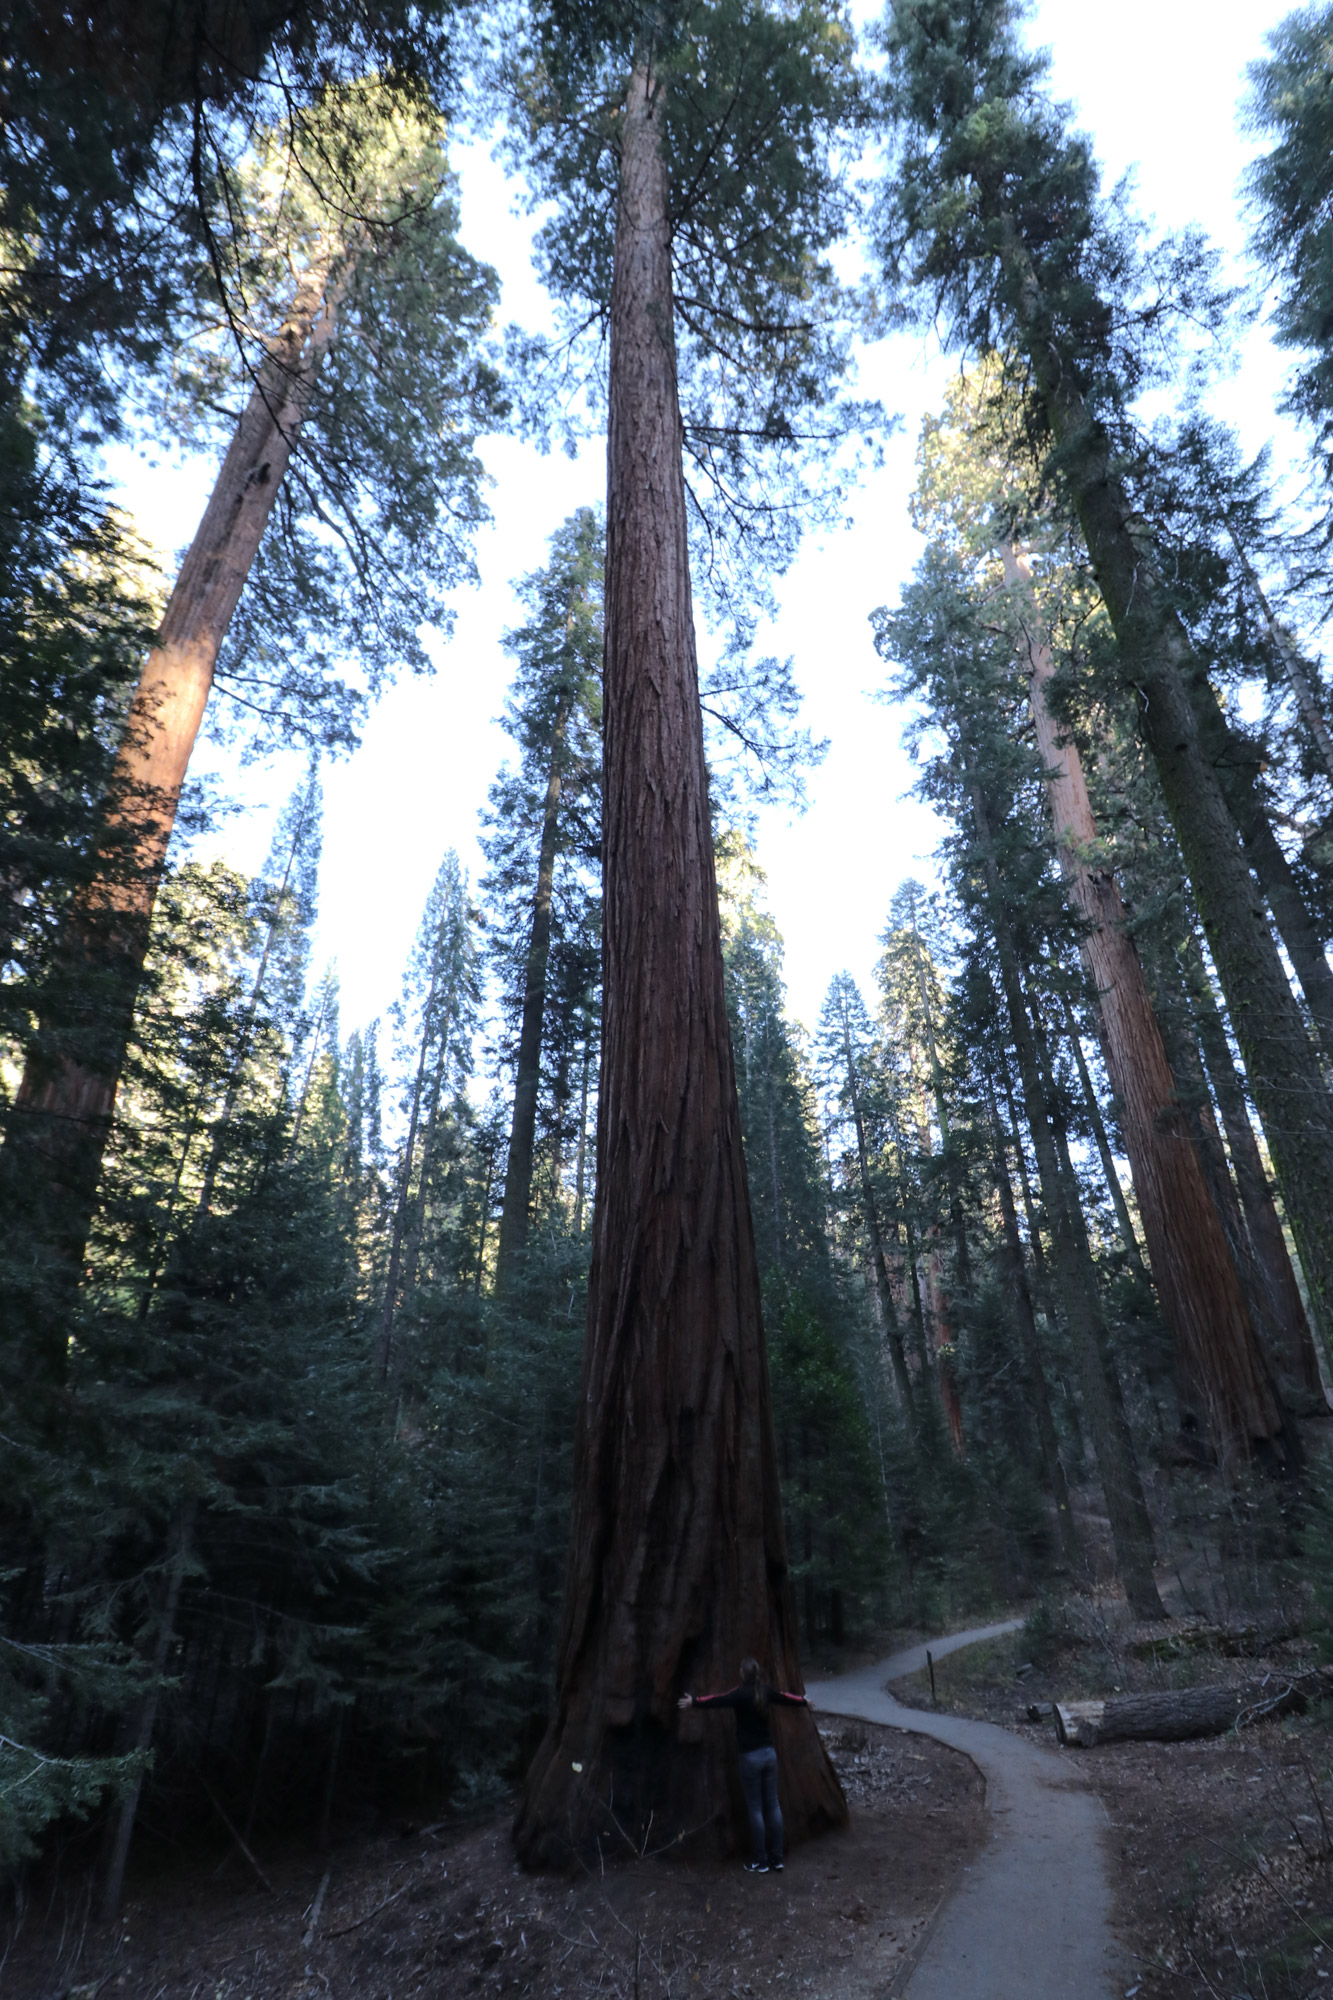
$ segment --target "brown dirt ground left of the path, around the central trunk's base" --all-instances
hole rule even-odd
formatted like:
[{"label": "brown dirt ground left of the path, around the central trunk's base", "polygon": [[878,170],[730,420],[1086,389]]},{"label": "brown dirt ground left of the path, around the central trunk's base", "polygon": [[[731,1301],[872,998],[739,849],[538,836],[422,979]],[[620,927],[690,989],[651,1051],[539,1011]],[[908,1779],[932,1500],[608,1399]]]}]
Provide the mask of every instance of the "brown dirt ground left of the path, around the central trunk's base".
[{"label": "brown dirt ground left of the path, around the central trunk's base", "polygon": [[[20,1914],[6,2000],[883,2000],[981,1842],[967,1758],[863,1724],[825,1728],[851,1832],[783,1874],[673,1860],[524,1876],[508,1812],[348,1842],[328,1856],[180,1856],[88,1920],[88,1882]],[[326,1880],[324,1880],[326,1876]],[[320,1894],[320,1884],[322,1894]],[[318,1906],[318,1920],[316,1920]]]}]

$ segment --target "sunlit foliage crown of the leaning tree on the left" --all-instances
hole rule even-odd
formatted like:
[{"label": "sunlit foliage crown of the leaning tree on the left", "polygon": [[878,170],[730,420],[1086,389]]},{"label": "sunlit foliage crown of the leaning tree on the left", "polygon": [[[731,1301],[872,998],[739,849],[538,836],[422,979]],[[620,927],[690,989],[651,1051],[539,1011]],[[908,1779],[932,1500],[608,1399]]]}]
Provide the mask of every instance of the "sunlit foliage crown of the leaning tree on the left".
[{"label": "sunlit foliage crown of the leaning tree on the left", "polygon": [[486,346],[498,280],[458,242],[442,118],[374,78],[256,130],[218,172],[228,234],[196,272],[170,378],[140,386],[148,418],[222,448],[302,282],[332,338],[210,726],[346,748],[384,680],[426,666],[422,626],[448,632],[450,594],[474,578],[476,436],[506,412]]}]

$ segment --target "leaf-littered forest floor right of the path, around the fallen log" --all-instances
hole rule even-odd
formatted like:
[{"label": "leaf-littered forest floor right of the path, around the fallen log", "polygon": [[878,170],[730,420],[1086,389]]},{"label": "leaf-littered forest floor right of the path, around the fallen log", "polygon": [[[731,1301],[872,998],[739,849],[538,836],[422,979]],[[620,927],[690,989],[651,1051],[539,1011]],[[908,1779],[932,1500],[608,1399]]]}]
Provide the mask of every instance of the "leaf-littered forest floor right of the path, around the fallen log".
[{"label": "leaf-littered forest floor right of the path, around the fallen log", "polygon": [[[1063,1630],[1061,1630],[1063,1626]],[[1033,1640],[1039,1640],[1035,1646]],[[1041,1664],[1031,1654],[1041,1652]],[[1065,1610],[935,1664],[935,1706],[1053,1744],[1029,1704],[1253,1680],[1311,1664],[1307,1640],[1131,1628]],[[927,1674],[895,1682],[929,1708]],[[1333,1992],[1333,1704],[1241,1734],[1065,1750],[1111,1822],[1115,1922],[1135,2000]]]}]

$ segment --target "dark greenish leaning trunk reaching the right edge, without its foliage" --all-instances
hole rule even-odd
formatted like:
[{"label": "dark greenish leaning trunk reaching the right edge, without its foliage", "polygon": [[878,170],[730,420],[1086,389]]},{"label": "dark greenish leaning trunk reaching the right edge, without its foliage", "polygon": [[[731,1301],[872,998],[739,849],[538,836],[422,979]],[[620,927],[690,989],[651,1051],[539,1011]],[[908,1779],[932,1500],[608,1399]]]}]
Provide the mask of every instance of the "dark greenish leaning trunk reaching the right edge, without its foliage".
[{"label": "dark greenish leaning trunk reaching the right edge, without its foliage", "polygon": [[1075,370],[1051,338],[1041,280],[1005,194],[987,194],[1005,232],[1005,276],[1115,628],[1121,674],[1139,704],[1139,732],[1185,856],[1301,1262],[1315,1302],[1333,1306],[1333,1104],[1237,840],[1235,786],[1227,776],[1235,744],[1113,468],[1111,438],[1089,414]]}]

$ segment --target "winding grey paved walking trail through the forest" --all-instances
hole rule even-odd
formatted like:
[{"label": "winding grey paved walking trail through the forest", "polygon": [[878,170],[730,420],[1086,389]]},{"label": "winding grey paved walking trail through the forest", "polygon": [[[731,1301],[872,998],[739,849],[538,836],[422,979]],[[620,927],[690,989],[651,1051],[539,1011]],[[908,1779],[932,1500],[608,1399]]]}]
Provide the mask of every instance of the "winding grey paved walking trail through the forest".
[{"label": "winding grey paved walking trail through the forest", "polygon": [[[1021,1618],[929,1640],[937,1660],[1013,1632]],[[987,1844],[935,1918],[905,2000],[1119,2000],[1133,1986],[1111,1936],[1107,1814],[1077,1766],[993,1722],[903,1708],[887,1680],[921,1672],[913,1646],[809,1688],[817,1710],[889,1722],[963,1750],[987,1782]],[[897,1990],[897,1988],[895,1988]]]}]

